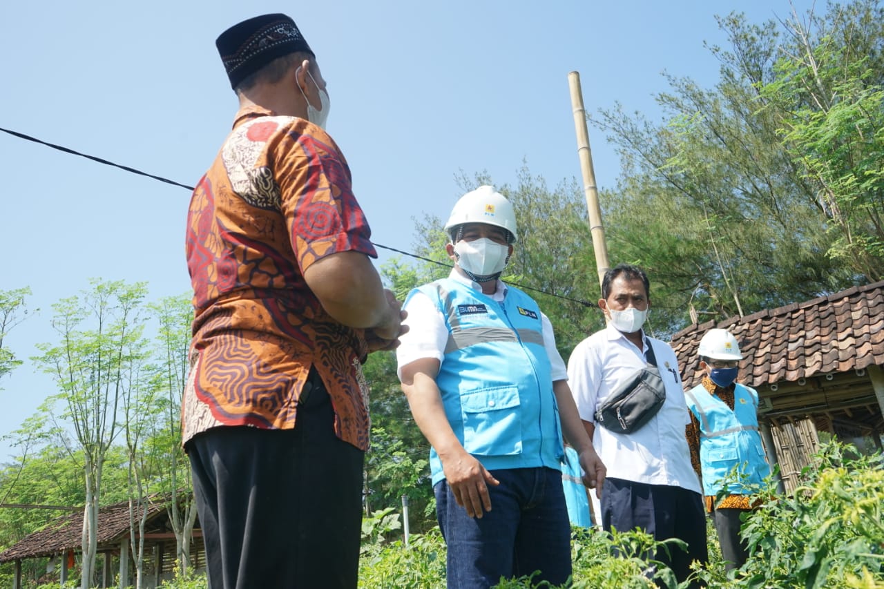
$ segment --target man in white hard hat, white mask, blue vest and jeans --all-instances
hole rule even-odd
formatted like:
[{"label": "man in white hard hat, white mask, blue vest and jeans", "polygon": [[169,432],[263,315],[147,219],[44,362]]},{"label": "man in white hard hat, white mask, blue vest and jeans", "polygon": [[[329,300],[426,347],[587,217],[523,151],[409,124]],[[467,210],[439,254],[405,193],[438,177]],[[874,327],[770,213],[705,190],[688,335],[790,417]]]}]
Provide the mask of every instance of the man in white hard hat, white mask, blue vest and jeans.
[{"label": "man in white hard hat, white mask, blue vest and jeans", "polygon": [[[402,390],[431,444],[448,587],[531,575],[561,585],[571,574],[562,490],[562,437],[586,486],[601,488],[598,459],[568,388],[552,325],[500,274],[513,254],[513,205],[483,186],[463,195],[445,226],[454,268],[408,295],[397,348]],[[406,325],[406,324],[403,324]]]}]

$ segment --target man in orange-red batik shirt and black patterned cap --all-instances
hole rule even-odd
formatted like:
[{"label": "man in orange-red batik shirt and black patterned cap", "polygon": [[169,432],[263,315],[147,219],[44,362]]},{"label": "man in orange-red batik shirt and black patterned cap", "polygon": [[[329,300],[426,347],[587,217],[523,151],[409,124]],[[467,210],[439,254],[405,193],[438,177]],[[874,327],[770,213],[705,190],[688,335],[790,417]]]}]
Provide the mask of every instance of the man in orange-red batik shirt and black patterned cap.
[{"label": "man in orange-red batik shirt and black patterned cap", "polygon": [[183,443],[210,586],[355,587],[361,364],[400,335],[350,171],[324,131],[325,81],[292,19],[217,49],[240,111],[187,217],[194,287]]}]

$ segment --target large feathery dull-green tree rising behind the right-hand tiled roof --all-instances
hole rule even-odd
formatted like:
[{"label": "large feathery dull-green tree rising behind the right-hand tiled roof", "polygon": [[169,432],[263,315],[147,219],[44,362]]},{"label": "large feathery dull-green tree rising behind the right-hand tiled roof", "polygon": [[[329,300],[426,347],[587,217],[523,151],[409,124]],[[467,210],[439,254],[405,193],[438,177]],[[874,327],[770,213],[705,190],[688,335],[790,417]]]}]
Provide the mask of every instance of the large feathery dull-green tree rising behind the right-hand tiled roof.
[{"label": "large feathery dull-green tree rising behind the right-hand tiled roof", "polygon": [[[808,17],[819,28],[813,38],[829,40],[826,51],[841,55],[850,42],[850,55],[866,56],[865,70],[856,67],[853,74],[846,65],[855,62],[835,60],[839,83],[850,82],[850,88],[868,87],[874,76],[864,80],[864,72],[881,72],[876,5],[865,0],[832,5],[825,18]],[[652,124],[619,105],[601,111],[593,121],[617,145],[623,165],[618,187],[602,195],[612,260],[639,264],[649,272],[654,302],[650,321],[663,335],[687,320],[746,315],[877,278],[881,256],[873,230],[874,211],[880,211],[880,191],[874,192],[879,140],[865,133],[868,141],[850,143],[852,159],[839,160],[842,172],[849,162],[864,162],[850,170],[861,174],[865,184],[856,174],[828,182],[830,188],[857,187],[850,195],[843,191],[843,201],[853,199],[850,226],[833,220],[807,157],[816,146],[813,161],[832,165],[832,154],[823,148],[841,149],[829,140],[844,138],[851,129],[860,133],[859,119],[850,119],[846,109],[836,110],[834,118],[844,123],[837,133],[820,126],[813,127],[813,134],[789,136],[784,131],[784,121],[801,119],[807,111],[800,109],[811,103],[804,98],[789,103],[795,93],[785,88],[796,90],[803,82],[794,67],[778,62],[794,56],[800,61],[807,54],[806,39],[796,34],[805,29],[797,23],[797,15],[763,25],[748,23],[737,13],[720,18],[730,47],[709,48],[721,62],[720,80],[712,89],[667,75],[669,91],[658,96],[661,123]],[[834,80],[829,88],[844,91]],[[877,110],[873,104],[880,96],[874,91],[854,96],[857,100],[848,101],[850,113],[867,108],[880,117],[880,102]],[[858,128],[871,131],[877,120],[866,117]],[[863,249],[865,258],[857,249]],[[845,263],[850,256],[856,264]]]}]

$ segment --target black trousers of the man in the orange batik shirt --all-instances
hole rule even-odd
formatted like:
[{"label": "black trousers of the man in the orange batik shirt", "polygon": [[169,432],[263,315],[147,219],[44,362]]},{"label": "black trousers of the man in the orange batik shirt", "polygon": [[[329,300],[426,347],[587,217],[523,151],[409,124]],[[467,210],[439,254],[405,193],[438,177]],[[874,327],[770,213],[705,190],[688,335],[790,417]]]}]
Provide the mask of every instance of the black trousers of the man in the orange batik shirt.
[{"label": "black trousers of the man in the orange batik shirt", "polygon": [[293,430],[217,427],[187,443],[211,589],[354,589],[362,459],[318,386]]}]

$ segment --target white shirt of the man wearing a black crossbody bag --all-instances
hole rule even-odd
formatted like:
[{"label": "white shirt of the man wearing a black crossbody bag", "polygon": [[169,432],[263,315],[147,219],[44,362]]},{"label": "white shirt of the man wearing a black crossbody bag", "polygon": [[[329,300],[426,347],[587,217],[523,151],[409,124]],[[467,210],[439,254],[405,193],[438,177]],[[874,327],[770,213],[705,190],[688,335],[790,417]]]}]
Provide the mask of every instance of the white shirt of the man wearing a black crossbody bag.
[{"label": "white shirt of the man wearing a black crossbody bag", "polygon": [[[666,386],[666,402],[657,415],[632,433],[615,433],[596,424],[598,404],[646,363],[647,341],[653,342],[657,367]],[[608,325],[574,348],[568,360],[568,385],[583,421],[596,425],[592,443],[607,467],[607,476],[648,485],[681,486],[700,493],[690,464],[684,426],[690,423],[678,360],[665,341],[645,336],[643,348]]]}]

